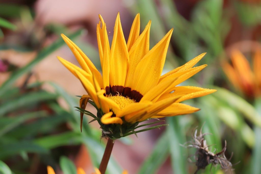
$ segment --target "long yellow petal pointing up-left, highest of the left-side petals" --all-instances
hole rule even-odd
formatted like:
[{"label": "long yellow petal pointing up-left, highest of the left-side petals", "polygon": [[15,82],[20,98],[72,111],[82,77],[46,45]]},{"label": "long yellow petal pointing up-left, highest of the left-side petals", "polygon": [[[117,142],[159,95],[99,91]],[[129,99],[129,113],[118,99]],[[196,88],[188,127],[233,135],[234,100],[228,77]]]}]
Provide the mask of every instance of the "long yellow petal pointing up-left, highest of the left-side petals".
[{"label": "long yellow petal pointing up-left, highest of the left-side petals", "polygon": [[97,68],[93,65],[91,60],[82,52],[82,50],[73,43],[67,36],[61,34],[64,42],[68,45],[68,47],[72,50],[74,56],[76,57],[77,61],[79,62],[82,69],[84,69],[89,74],[94,74],[96,79],[98,80],[100,86],[103,86],[102,76]]}]

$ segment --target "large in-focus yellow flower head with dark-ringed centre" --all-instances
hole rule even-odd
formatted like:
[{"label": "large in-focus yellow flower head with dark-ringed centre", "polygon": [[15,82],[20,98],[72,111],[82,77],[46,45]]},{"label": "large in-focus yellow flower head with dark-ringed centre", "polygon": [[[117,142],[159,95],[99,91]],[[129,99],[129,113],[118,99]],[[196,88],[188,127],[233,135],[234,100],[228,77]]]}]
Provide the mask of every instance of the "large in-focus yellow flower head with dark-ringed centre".
[{"label": "large in-focus yellow flower head with dark-ringed centre", "polygon": [[97,41],[103,76],[64,34],[62,38],[82,69],[61,57],[58,59],[88,92],[82,96],[80,106],[85,108],[91,99],[101,111],[100,124],[134,124],[149,118],[193,113],[199,108],[180,102],[216,91],[177,86],[207,66],[193,67],[205,53],[161,76],[173,28],[149,50],[151,21],[140,34],[140,15],[137,14],[126,44],[118,13],[110,47],[106,24],[101,15],[99,19]]}]

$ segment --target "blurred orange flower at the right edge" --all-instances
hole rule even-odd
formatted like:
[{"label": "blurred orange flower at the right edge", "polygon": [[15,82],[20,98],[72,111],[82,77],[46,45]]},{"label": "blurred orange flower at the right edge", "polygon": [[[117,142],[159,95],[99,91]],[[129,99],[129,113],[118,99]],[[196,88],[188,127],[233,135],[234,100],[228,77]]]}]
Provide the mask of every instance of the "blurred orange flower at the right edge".
[{"label": "blurred orange flower at the right edge", "polygon": [[222,68],[233,86],[247,97],[258,97],[261,94],[261,51],[253,56],[253,71],[246,57],[239,51],[231,52],[232,65],[223,62]]}]

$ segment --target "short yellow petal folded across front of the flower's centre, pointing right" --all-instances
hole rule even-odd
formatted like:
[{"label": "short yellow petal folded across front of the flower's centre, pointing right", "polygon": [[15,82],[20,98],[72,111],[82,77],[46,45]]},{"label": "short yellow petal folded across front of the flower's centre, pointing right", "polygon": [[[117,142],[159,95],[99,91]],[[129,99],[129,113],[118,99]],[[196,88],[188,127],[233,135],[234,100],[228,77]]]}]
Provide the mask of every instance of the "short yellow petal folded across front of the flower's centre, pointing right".
[{"label": "short yellow petal folded across front of the flower's centre, pointing right", "polygon": [[138,102],[138,103],[131,103],[125,106],[121,111],[116,114],[116,117],[123,117],[124,115],[128,115],[137,111],[140,111],[144,108],[150,106],[152,102],[145,101],[145,102]]}]

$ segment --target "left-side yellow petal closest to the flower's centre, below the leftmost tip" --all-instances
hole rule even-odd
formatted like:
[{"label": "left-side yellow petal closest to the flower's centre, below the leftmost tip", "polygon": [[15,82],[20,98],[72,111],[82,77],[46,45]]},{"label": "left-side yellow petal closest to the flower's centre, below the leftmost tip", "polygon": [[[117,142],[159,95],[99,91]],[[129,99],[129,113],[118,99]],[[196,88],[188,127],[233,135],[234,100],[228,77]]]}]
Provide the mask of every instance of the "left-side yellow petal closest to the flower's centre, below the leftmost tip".
[{"label": "left-side yellow petal closest to the flower's centre, below the leftmost tip", "polygon": [[86,79],[81,73],[77,71],[75,71],[75,73],[78,79],[80,79],[82,85],[84,86],[84,89],[88,92],[88,95],[90,95],[91,99],[96,104],[96,106],[100,108],[98,97],[96,95],[96,91],[94,89],[93,84],[88,79]]}]

